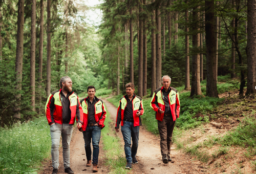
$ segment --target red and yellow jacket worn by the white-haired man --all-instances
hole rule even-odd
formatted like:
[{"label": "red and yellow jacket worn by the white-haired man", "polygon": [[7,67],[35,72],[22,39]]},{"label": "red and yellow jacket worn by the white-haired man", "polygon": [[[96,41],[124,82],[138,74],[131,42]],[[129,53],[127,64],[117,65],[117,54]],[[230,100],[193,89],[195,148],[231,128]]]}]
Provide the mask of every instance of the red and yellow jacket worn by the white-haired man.
[{"label": "red and yellow jacket worn by the white-haired man", "polygon": [[[162,90],[164,90],[163,86],[162,88],[159,88],[154,92],[151,99],[151,107],[153,108],[154,111],[156,111],[156,119],[159,121],[163,121],[164,116],[164,114],[159,113],[159,108],[161,108],[162,111],[165,110],[165,104],[162,98]],[[179,118],[180,115],[179,92],[175,88],[170,87],[168,99],[170,104],[170,112],[172,113],[173,120],[175,121],[177,118]]]}]

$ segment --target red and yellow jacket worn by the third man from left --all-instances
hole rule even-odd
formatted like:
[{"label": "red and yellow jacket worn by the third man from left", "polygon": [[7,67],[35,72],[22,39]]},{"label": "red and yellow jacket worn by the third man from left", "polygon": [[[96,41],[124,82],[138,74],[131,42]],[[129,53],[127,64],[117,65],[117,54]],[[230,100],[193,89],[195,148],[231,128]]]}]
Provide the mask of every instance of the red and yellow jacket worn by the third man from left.
[{"label": "red and yellow jacket worn by the third man from left", "polygon": [[[134,119],[133,125],[141,126],[142,125],[141,119],[140,119],[140,116],[137,116],[137,111],[140,111],[141,115],[144,114],[142,99],[139,96],[135,95],[134,99],[132,100],[132,104],[133,104],[133,119]],[[121,126],[123,126],[123,117],[124,117],[124,110],[125,110],[126,105],[127,105],[127,100],[126,100],[125,96],[123,96],[119,101],[115,128],[119,128],[120,122],[121,122]]]}]

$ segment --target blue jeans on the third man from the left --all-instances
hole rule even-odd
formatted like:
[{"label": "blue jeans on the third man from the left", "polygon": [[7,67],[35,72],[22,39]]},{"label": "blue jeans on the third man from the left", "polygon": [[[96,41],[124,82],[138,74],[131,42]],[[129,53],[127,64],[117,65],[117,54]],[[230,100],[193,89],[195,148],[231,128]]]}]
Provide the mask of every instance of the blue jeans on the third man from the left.
[{"label": "blue jeans on the third man from the left", "polygon": [[[139,131],[140,126],[133,126],[133,122],[123,121],[123,126],[121,126],[121,132],[123,134],[124,140],[124,152],[125,158],[128,163],[132,163],[132,157],[137,154],[137,149],[139,145]],[[131,138],[133,145],[131,148]]]}]

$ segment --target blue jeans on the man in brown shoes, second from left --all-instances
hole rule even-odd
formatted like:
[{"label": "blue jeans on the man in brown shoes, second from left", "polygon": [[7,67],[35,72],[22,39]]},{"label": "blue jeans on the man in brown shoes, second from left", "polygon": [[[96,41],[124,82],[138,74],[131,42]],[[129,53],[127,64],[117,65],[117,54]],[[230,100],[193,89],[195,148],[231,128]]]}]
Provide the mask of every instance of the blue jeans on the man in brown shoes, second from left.
[{"label": "blue jeans on the man in brown shoes, second from left", "polygon": [[86,131],[83,131],[84,148],[86,148],[86,158],[88,161],[92,160],[91,139],[93,143],[93,164],[98,164],[99,157],[99,140],[101,128],[99,126],[89,127],[87,125]]}]

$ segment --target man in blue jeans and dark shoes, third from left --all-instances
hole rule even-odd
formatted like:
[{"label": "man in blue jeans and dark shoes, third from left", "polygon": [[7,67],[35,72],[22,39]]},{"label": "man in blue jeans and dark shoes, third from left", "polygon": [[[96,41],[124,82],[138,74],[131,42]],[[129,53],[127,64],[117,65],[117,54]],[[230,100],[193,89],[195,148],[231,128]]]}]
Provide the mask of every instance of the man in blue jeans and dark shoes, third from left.
[{"label": "man in blue jeans and dark shoes, third from left", "polygon": [[[117,109],[116,127],[119,132],[121,122],[121,132],[124,140],[124,152],[127,164],[125,168],[132,169],[132,163],[137,164],[137,149],[139,145],[139,130],[141,124],[140,116],[144,113],[142,99],[134,94],[134,84],[125,85],[126,95],[119,101]],[[131,138],[133,145],[131,148]]]}]

